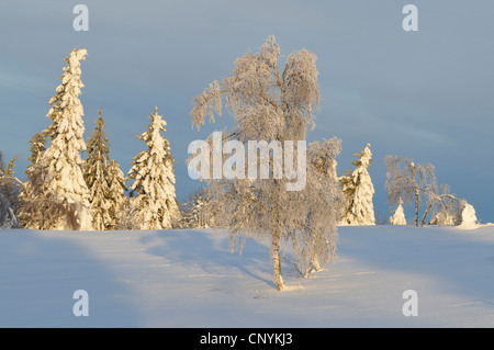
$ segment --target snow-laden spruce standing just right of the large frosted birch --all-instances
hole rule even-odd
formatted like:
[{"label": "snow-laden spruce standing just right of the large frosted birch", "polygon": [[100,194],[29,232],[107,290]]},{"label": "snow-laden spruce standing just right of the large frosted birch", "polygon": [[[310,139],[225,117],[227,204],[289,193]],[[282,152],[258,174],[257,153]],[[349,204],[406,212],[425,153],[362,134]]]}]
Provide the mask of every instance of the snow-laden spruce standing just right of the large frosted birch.
[{"label": "snow-laden spruce standing just right of the large frosted birch", "polygon": [[347,208],[341,225],[375,225],[374,205],[372,197],[374,195],[374,185],[367,168],[372,162],[372,153],[370,144],[363,147],[359,157],[352,165],[356,169],[343,176],[340,184],[343,192],[347,197]]}]

